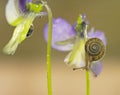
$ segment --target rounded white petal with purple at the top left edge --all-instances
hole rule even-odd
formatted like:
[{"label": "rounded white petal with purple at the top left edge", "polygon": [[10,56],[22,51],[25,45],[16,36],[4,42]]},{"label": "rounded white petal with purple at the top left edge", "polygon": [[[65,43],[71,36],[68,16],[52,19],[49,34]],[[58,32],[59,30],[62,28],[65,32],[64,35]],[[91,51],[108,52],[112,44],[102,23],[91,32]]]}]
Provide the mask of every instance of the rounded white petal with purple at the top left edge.
[{"label": "rounded white petal with purple at the top left edge", "polygon": [[16,26],[21,22],[25,5],[32,0],[8,0],[5,15],[10,25]]}]

